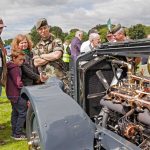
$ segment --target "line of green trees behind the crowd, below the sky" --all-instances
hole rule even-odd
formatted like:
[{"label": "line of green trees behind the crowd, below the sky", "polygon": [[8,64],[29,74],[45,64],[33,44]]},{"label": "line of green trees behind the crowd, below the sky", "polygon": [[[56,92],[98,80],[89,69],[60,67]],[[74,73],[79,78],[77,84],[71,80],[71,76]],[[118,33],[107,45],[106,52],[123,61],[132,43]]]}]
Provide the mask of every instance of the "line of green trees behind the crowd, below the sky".
[{"label": "line of green trees behind the crowd, below the sky", "polygon": [[[112,25],[112,27],[114,26],[115,25]],[[99,31],[102,42],[107,42],[106,35],[108,32],[108,27],[106,24],[103,24],[103,25],[98,24],[92,28],[96,28]],[[150,26],[146,26],[143,24],[136,24],[136,25],[132,25],[129,28],[127,27],[123,27],[123,28],[126,31],[126,35],[129,36],[129,38],[131,39],[143,39],[143,38],[146,38],[148,34],[150,34]],[[62,41],[65,41],[65,40],[71,41],[75,36],[75,32],[79,29],[74,28],[74,29],[71,29],[69,32],[63,32],[63,30],[60,27],[51,26],[50,30],[51,30],[51,33],[55,37],[62,39]],[[84,32],[83,41],[85,41],[88,39],[88,32],[85,32],[85,31],[83,32]],[[35,46],[37,42],[39,42],[40,40],[40,36],[38,35],[35,26],[31,29],[28,35],[32,39],[33,45]],[[5,40],[4,41],[5,46],[10,45],[11,42],[12,42],[12,39]]]}]

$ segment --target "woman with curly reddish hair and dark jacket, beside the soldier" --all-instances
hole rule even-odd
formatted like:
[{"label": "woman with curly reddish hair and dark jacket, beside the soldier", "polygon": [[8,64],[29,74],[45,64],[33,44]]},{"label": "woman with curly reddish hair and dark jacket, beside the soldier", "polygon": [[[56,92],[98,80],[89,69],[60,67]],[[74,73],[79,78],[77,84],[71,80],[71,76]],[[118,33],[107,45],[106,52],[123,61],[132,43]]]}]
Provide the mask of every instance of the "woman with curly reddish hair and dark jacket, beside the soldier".
[{"label": "woman with curly reddish hair and dark jacket, beside the soldier", "polygon": [[47,77],[39,75],[33,65],[32,41],[27,35],[18,34],[11,43],[11,51],[25,53],[25,61],[21,65],[22,82],[24,86],[39,84],[47,80]]}]

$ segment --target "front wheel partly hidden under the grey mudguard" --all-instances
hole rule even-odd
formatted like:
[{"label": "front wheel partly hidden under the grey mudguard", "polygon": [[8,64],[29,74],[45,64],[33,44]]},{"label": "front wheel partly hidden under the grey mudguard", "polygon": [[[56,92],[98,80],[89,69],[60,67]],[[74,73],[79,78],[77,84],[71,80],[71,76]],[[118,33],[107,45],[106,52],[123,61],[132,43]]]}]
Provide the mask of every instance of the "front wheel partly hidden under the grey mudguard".
[{"label": "front wheel partly hidden under the grey mudguard", "polygon": [[41,143],[40,143],[40,137],[38,132],[37,119],[32,105],[30,105],[27,111],[26,133],[27,133],[29,150],[40,150]]}]

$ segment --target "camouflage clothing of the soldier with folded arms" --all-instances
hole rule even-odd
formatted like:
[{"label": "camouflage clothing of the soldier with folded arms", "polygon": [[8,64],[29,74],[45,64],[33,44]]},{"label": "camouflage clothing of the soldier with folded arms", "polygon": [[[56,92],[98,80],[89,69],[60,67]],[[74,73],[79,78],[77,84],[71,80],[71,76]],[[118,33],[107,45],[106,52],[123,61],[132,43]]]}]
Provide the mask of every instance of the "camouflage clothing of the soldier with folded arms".
[{"label": "camouflage clothing of the soldier with folded arms", "polygon": [[[45,41],[41,39],[41,41],[36,45],[33,54],[34,56],[40,57],[42,54],[49,54],[54,51],[62,51],[63,53],[63,45],[60,39],[54,39],[54,37],[51,36]],[[66,68],[62,58],[60,58],[58,60],[48,62],[43,66],[39,66],[38,71],[45,71],[49,77],[57,76],[59,79],[62,79],[65,76]]]}]

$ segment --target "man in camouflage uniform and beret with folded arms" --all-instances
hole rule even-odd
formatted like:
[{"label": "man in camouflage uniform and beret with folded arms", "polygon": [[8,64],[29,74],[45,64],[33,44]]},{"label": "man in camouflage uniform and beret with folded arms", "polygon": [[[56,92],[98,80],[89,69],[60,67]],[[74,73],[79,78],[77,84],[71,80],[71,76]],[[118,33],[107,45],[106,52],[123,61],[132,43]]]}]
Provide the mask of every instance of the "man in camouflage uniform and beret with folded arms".
[{"label": "man in camouflage uniform and beret with folded arms", "polygon": [[46,73],[48,77],[58,77],[67,86],[66,70],[62,61],[63,44],[61,39],[54,38],[45,18],[36,23],[36,30],[41,36],[40,42],[34,49],[34,65],[39,73]]}]

